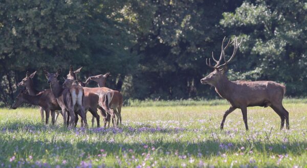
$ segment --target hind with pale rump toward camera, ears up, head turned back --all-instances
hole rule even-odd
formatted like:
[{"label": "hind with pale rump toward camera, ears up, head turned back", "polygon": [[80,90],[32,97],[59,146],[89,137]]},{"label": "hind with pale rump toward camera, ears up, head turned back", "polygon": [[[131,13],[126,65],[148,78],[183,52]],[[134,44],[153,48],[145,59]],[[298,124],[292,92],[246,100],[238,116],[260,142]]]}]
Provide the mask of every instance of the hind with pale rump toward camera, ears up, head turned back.
[{"label": "hind with pale rump toward camera, ears up, head turned back", "polygon": [[[54,97],[57,99],[63,114],[67,114],[67,112],[69,112],[69,116],[67,116],[68,118],[71,118],[70,120],[67,120],[69,121],[69,125],[73,126],[75,123],[74,109],[75,105],[77,105],[78,110],[80,111],[80,116],[84,121],[84,125],[87,127],[87,120],[84,116],[83,88],[79,85],[74,85],[70,88],[62,88],[62,86],[59,84],[59,81],[57,80],[58,75],[61,73],[61,69],[58,69],[55,73],[49,73],[46,69],[43,69],[43,71],[45,72],[51,91]],[[65,116],[66,115],[64,115],[64,118]]]}]

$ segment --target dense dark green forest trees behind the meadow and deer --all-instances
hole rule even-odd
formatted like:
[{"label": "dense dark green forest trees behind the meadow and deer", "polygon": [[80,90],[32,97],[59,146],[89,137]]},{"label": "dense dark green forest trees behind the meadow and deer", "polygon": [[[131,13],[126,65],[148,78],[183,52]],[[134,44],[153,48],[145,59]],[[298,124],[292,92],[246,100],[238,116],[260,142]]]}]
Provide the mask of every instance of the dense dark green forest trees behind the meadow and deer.
[{"label": "dense dark green forest trees behind the meadow and deer", "polygon": [[200,79],[224,36],[244,39],[230,79],[274,80],[287,96],[307,95],[306,1],[7,0],[0,1],[0,102],[14,100],[26,71],[37,71],[42,90],[49,88],[42,67],[66,76],[69,65],[83,66],[83,81],[111,72],[107,87],[126,99],[216,98]]}]

